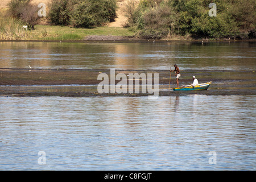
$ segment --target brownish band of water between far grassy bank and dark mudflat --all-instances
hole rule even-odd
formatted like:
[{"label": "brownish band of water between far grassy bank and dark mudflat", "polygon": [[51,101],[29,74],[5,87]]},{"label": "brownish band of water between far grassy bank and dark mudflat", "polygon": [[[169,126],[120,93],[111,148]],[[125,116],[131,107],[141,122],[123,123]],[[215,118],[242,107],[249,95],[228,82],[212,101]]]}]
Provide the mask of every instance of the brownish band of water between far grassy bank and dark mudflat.
[{"label": "brownish band of water between far grassy bank and dark mudflat", "polygon": [[0,68],[255,70],[256,43],[0,42]]}]

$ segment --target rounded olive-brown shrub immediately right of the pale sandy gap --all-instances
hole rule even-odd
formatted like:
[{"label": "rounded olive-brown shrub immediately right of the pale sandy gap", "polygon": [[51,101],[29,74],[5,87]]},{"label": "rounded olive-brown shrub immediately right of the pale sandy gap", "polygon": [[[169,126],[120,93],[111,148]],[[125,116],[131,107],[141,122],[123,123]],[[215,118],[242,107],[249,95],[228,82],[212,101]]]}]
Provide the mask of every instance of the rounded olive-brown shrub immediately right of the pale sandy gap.
[{"label": "rounded olive-brown shrub immediately right of the pale sandy gap", "polygon": [[168,3],[160,0],[143,0],[133,9],[134,2],[128,2],[126,26],[136,26],[137,36],[144,39],[163,39],[174,35],[179,16]]}]

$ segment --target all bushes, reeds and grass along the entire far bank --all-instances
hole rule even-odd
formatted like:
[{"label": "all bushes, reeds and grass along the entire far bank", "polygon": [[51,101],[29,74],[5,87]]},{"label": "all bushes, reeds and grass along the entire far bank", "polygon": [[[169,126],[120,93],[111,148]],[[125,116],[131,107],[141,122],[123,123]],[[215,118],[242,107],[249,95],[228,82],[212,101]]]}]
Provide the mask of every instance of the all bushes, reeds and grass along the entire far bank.
[{"label": "all bushes, reeds and grass along the entire far bank", "polygon": [[[88,35],[136,36],[144,39],[256,39],[255,0],[130,0],[125,28],[107,27],[117,0],[51,0],[47,17],[38,16],[31,0],[11,0],[0,12],[1,40],[83,40]],[[49,23],[42,25],[39,22]],[[27,25],[28,30],[23,26]]]}]

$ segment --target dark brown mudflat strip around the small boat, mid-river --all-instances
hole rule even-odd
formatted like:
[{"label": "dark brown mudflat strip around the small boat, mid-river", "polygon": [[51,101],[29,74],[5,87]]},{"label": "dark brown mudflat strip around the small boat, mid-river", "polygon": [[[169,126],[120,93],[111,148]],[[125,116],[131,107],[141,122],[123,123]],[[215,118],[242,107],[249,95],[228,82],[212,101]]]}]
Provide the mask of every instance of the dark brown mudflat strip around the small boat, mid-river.
[{"label": "dark brown mudflat strip around the small boat, mid-river", "polygon": [[[0,69],[0,96],[60,96],[60,97],[142,97],[146,93],[104,93],[97,91],[101,80],[97,80],[100,73],[110,75],[109,70],[96,69]],[[205,95],[253,95],[256,94],[255,72],[243,71],[183,71],[180,85],[187,85],[191,75],[200,74],[199,82],[212,81],[208,90],[174,92],[176,79],[171,78],[168,70],[116,70],[115,73],[158,73],[159,96],[184,96],[188,94]],[[117,84],[119,81],[115,81]]]}]

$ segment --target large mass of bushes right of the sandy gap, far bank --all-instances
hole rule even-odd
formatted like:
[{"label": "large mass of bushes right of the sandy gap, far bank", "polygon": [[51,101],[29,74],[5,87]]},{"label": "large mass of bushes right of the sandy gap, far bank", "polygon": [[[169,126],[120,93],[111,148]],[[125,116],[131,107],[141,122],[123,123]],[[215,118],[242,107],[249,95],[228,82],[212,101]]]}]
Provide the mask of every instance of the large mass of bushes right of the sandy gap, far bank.
[{"label": "large mass of bushes right of the sandy gap, far bank", "polygon": [[209,16],[209,0],[142,0],[126,6],[126,27],[139,38],[256,38],[254,0],[216,0],[217,16]]}]

